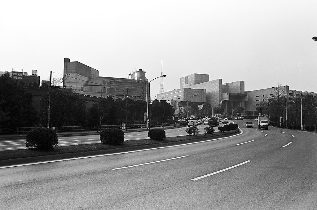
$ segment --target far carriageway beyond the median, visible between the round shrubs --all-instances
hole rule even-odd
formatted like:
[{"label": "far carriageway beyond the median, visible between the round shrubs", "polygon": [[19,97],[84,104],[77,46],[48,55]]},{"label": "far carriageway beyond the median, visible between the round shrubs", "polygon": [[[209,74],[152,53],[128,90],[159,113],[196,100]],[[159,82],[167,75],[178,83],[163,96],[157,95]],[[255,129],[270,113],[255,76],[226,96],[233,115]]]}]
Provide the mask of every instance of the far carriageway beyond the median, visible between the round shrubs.
[{"label": "far carriageway beyond the median, visible between the round shrubs", "polygon": [[[199,133],[204,133],[204,128],[207,125],[198,125],[197,128],[199,129]],[[186,133],[187,127],[178,127],[173,129],[165,129],[166,137],[175,137],[175,136],[185,136],[188,135]],[[217,127],[214,127],[215,131],[218,132]],[[138,139],[147,139],[148,130],[144,131],[136,131],[136,132],[127,132],[125,133],[125,141],[129,140],[138,140]],[[74,145],[74,144],[88,144],[88,143],[100,143],[100,134],[95,133],[89,136],[69,136],[69,137],[59,137],[58,146],[67,146],[67,145]],[[0,151],[1,150],[19,150],[19,149],[26,149],[25,146],[26,139],[17,139],[11,138],[0,141]]]}]

